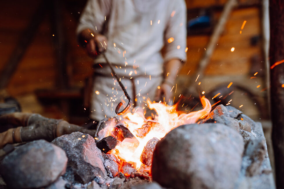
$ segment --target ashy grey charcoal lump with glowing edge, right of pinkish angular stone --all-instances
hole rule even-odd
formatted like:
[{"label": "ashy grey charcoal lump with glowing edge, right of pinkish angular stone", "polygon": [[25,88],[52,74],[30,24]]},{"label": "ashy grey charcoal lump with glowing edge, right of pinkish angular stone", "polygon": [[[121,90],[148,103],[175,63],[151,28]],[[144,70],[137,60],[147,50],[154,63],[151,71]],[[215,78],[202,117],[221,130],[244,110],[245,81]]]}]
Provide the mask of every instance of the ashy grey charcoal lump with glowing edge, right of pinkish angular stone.
[{"label": "ashy grey charcoal lump with glowing edge, right of pinkish angular stone", "polygon": [[108,176],[116,177],[121,168],[120,164],[116,162],[116,158],[112,154],[103,154],[103,157],[105,158],[103,165],[105,166],[105,170],[108,172]]}]

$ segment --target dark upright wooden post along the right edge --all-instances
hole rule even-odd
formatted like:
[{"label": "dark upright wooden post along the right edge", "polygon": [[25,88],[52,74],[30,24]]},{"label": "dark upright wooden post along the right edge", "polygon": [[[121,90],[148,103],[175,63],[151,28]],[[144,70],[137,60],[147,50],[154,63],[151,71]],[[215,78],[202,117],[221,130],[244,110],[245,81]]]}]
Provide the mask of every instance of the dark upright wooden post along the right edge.
[{"label": "dark upright wooden post along the right edge", "polygon": [[281,63],[281,60],[284,61],[283,13],[284,1],[270,0],[270,94],[277,188],[284,188],[284,63]]}]

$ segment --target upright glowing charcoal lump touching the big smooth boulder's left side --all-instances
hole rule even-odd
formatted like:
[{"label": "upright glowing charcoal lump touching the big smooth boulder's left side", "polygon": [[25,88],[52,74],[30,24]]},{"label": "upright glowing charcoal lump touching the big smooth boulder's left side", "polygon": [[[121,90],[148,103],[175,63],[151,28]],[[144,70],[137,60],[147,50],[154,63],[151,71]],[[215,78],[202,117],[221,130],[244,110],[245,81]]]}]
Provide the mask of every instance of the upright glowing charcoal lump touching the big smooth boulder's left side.
[{"label": "upright glowing charcoal lump touching the big smooth boulder's left side", "polygon": [[140,156],[140,161],[145,164],[150,166],[152,163],[152,157],[153,157],[153,152],[156,147],[157,142],[159,142],[159,139],[156,137],[152,138],[147,142],[147,144],[144,146],[143,152]]}]

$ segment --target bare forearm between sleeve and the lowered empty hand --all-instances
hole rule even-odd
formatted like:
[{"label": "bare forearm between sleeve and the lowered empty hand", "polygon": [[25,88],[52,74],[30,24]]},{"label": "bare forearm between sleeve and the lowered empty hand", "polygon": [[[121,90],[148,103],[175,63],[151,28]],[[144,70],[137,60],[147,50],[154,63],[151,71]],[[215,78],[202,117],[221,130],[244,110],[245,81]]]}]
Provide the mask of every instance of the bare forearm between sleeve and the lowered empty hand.
[{"label": "bare forearm between sleeve and the lowered empty hand", "polygon": [[180,59],[171,59],[164,65],[164,83],[169,85],[175,85],[175,79],[179,70],[181,69],[182,63]]}]

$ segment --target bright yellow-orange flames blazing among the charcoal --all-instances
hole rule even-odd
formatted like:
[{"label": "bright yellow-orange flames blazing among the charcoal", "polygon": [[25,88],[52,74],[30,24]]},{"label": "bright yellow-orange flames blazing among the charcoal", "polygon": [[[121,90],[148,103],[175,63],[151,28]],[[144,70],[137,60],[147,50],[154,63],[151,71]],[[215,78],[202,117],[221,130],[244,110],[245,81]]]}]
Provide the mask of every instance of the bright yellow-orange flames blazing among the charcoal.
[{"label": "bright yellow-orange flames blazing among the charcoal", "polygon": [[146,118],[140,109],[134,110],[134,113],[128,112],[123,115],[119,124],[109,125],[105,134],[105,137],[111,135],[121,141],[108,153],[114,154],[120,162],[131,163],[138,170],[141,165],[145,170],[140,156],[149,140],[154,137],[161,139],[172,129],[195,123],[211,111],[211,104],[205,96],[201,97],[203,109],[190,113],[178,111],[177,104],[168,106],[163,103],[152,103],[150,100],[147,100],[147,104],[149,109],[155,110],[156,113],[151,113],[152,116]]}]

